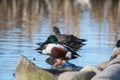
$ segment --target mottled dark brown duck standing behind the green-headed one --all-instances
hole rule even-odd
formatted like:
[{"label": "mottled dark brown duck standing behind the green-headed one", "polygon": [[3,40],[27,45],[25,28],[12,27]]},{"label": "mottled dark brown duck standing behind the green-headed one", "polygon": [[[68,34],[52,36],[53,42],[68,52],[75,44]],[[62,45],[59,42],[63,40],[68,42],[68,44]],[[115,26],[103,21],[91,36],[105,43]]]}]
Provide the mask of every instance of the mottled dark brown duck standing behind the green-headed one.
[{"label": "mottled dark brown duck standing behind the green-headed one", "polygon": [[78,50],[80,47],[85,45],[83,42],[87,41],[86,39],[77,38],[74,35],[61,34],[60,30],[56,26],[53,27],[53,31],[60,42],[68,44],[68,46],[73,50]]}]

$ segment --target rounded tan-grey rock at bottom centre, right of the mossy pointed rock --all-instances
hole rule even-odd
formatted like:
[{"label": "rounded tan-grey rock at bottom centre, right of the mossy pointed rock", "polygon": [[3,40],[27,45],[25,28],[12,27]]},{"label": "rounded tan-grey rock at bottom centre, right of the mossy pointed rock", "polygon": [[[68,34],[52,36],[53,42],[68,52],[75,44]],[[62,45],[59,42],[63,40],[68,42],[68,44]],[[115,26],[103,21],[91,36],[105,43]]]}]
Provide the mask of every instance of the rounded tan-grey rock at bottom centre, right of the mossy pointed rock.
[{"label": "rounded tan-grey rock at bottom centre, right of the mossy pointed rock", "polygon": [[[96,68],[94,68],[95,70]],[[91,80],[91,78],[96,74],[92,69],[83,68],[81,71],[64,72],[59,77],[58,80]]]}]

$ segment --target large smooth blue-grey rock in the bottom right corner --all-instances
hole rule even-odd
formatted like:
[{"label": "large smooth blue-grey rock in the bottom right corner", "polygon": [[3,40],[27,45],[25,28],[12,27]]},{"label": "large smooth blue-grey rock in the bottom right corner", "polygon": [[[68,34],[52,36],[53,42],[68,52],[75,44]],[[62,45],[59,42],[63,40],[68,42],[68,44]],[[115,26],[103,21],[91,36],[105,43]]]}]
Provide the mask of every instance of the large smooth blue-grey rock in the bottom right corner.
[{"label": "large smooth blue-grey rock in the bottom right corner", "polygon": [[120,80],[120,55],[110,61],[108,66],[92,80]]}]

